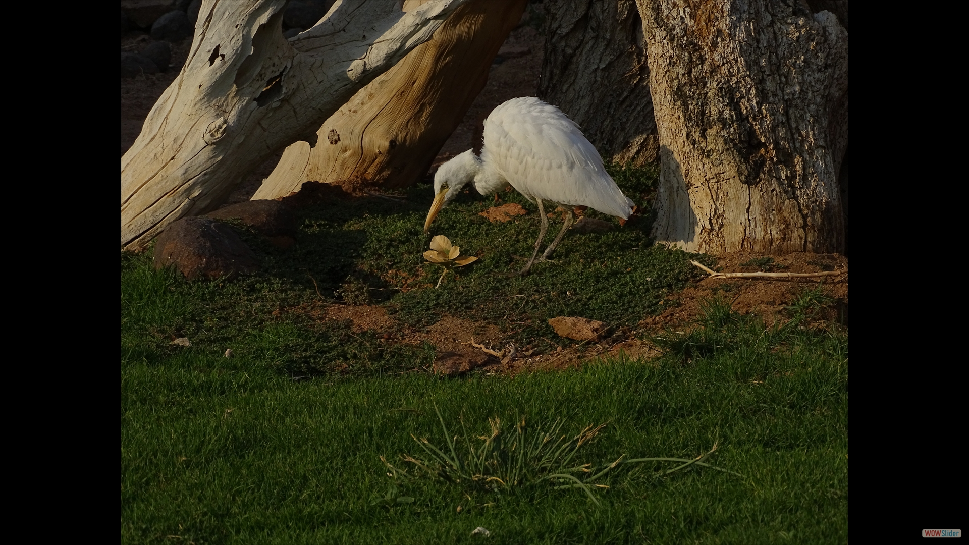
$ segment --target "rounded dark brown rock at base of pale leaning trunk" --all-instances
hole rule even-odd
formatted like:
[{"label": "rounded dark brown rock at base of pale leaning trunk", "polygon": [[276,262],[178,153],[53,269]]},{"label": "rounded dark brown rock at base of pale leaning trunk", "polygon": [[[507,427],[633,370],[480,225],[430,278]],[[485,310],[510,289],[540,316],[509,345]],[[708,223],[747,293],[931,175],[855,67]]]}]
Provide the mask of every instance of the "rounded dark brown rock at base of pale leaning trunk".
[{"label": "rounded dark brown rock at base of pale leaning trunk", "polygon": [[205,217],[185,217],[155,243],[155,269],[162,267],[175,267],[188,279],[228,279],[259,271],[259,261],[232,227]]}]

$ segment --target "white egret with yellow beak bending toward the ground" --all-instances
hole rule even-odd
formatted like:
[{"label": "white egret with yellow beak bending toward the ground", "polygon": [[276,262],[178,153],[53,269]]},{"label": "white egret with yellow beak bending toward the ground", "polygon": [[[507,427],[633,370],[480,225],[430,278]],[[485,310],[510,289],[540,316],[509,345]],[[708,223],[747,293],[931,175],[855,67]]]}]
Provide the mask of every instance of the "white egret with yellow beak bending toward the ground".
[{"label": "white egret with yellow beak bending toward the ground", "polygon": [[438,211],[451,202],[469,181],[482,195],[511,184],[529,202],[536,203],[542,227],[528,265],[536,261],[548,229],[543,201],[566,209],[562,230],[539,261],[547,260],[572,226],[573,207],[587,207],[628,219],[633,201],[622,194],[606,174],[602,157],[582,136],[578,124],[558,108],[535,97],[513,98],[485,119],[481,157],[469,149],[441,165],[434,175],[434,203],[427,212],[424,233]]}]

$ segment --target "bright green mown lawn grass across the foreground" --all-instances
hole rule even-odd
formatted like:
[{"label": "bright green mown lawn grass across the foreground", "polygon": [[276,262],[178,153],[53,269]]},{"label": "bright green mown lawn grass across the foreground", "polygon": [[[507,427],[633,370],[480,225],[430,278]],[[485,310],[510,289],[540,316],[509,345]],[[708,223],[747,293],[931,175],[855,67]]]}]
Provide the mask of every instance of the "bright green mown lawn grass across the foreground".
[{"label": "bright green mown lawn grass across the foreground", "polygon": [[[193,348],[155,361],[127,354],[122,541],[466,542],[482,526],[498,543],[843,542],[844,341],[795,340],[689,365],[671,357],[516,378],[335,383],[295,382],[258,359]],[[692,458],[719,439],[715,464],[745,478],[637,467],[602,481],[601,507],[573,491],[465,496],[443,481],[394,484],[380,457],[413,452],[410,433],[440,439],[435,403],[482,434],[490,416],[561,417],[567,433],[609,421],[583,463]]]}]

